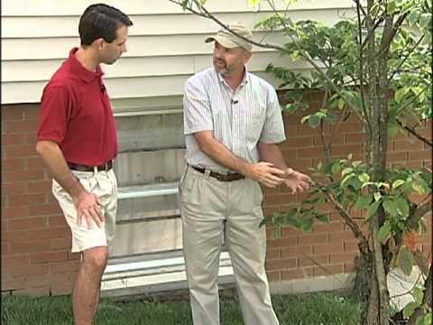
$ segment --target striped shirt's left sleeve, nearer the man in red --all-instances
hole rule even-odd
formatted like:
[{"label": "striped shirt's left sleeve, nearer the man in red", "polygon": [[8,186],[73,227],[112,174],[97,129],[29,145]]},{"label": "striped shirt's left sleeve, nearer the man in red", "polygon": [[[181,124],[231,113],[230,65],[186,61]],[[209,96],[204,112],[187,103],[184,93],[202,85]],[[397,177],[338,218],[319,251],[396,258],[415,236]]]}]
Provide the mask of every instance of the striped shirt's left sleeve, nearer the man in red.
[{"label": "striped shirt's left sleeve, nearer the man in red", "polygon": [[187,80],[184,88],[183,124],[185,135],[214,129],[207,93],[202,85],[195,84],[190,79]]}]

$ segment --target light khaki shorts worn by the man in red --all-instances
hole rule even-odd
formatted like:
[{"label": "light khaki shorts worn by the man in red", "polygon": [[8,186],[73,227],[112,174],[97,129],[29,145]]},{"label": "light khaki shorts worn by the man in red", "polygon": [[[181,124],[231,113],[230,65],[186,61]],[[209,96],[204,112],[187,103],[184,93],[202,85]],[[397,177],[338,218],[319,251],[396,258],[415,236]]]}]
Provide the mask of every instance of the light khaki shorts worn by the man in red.
[{"label": "light khaki shorts worn by the man in red", "polygon": [[83,218],[81,225],[77,222],[77,209],[72,198],[60,184],[52,180],[52,193],[59,201],[66,222],[72,232],[72,253],[82,252],[88,248],[108,246],[115,237],[115,212],[117,210],[117,181],[113,169],[101,172],[72,171],[85,190],[94,193],[102,202],[102,213],[105,217],[104,227],[99,228],[95,221],[90,228]]}]

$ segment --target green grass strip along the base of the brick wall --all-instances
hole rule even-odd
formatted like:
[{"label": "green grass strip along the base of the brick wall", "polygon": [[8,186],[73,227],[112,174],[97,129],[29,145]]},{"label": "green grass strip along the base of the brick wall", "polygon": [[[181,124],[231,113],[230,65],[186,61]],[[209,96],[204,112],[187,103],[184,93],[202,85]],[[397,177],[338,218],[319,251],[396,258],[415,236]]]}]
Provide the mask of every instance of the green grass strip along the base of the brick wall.
[{"label": "green grass strip along the base of the brick wall", "polygon": [[[273,306],[281,325],[356,325],[361,306],[335,293],[276,295]],[[70,297],[2,297],[2,323],[8,325],[73,324]],[[192,324],[189,302],[114,302],[103,299],[96,325]],[[221,324],[244,325],[237,302],[221,300]]]}]

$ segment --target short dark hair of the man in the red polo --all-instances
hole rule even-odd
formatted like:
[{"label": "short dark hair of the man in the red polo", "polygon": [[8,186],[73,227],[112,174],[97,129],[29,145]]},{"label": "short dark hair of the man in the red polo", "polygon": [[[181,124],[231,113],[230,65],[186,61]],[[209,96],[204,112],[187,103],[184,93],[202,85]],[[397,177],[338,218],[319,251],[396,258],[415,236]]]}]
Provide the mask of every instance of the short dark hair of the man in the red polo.
[{"label": "short dark hair of the man in the red polo", "polygon": [[132,26],[131,19],[111,5],[89,5],[79,19],[78,32],[81,45],[90,45],[98,38],[113,42],[117,29],[121,26]]}]

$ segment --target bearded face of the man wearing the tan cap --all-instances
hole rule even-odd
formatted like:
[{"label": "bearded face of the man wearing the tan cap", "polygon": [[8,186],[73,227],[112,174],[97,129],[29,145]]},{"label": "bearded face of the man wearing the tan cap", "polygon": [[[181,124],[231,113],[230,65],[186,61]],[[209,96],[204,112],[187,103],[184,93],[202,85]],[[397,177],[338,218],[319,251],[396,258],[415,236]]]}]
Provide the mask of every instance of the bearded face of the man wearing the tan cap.
[{"label": "bearded face of the man wearing the tan cap", "polygon": [[218,42],[214,48],[214,67],[223,76],[232,76],[237,71],[244,71],[244,64],[250,59],[251,52],[241,47],[228,49]]}]

